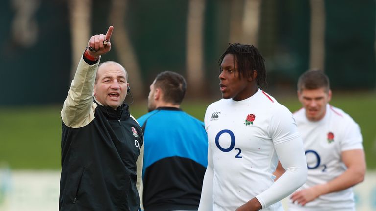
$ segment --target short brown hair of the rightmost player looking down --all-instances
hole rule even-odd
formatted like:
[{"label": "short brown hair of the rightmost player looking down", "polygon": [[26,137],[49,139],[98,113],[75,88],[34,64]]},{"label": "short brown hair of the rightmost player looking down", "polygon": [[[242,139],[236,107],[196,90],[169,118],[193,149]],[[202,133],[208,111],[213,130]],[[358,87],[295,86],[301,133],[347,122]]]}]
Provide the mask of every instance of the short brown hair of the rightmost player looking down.
[{"label": "short brown hair of the rightmost player looking down", "polygon": [[330,82],[329,78],[321,70],[308,70],[305,71],[298,79],[298,92],[303,89],[319,89],[324,88],[326,92],[329,92]]}]

